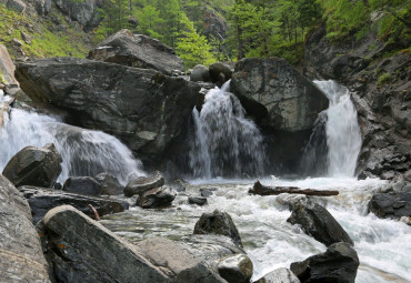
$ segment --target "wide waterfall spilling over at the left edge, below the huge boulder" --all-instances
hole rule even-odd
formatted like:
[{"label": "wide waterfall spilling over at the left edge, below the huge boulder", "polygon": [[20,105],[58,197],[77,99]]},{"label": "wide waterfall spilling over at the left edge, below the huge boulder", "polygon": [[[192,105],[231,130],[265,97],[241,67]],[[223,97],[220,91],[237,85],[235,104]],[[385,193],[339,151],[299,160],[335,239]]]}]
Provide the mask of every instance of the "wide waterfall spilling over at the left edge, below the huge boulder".
[{"label": "wide waterfall spilling over at the left edge, below the huge boulder", "polygon": [[20,109],[13,109],[10,117],[4,114],[4,125],[0,129],[0,172],[24,146],[43,146],[50,142],[63,160],[58,180],[61,183],[69,176],[94,176],[107,172],[124,184],[129,178],[144,174],[141,162],[114,137]]}]

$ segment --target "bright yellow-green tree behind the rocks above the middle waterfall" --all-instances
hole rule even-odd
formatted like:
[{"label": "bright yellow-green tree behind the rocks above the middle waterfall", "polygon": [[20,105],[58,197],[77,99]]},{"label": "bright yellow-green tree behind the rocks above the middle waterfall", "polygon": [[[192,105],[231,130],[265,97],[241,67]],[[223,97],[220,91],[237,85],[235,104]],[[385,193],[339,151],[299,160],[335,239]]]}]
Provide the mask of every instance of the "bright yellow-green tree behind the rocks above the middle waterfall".
[{"label": "bright yellow-green tree behind the rocks above the middle waterfall", "polygon": [[196,64],[211,64],[215,58],[204,36],[200,36],[189,18],[183,13],[180,18],[181,33],[177,40],[176,52],[184,61],[186,69]]}]

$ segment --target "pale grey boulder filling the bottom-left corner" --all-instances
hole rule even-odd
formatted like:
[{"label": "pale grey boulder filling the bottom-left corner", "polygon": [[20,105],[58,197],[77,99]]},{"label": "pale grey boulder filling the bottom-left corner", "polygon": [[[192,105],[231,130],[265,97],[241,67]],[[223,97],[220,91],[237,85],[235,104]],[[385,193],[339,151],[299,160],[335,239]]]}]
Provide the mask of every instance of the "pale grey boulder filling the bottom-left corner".
[{"label": "pale grey boulder filling the bottom-left corner", "polygon": [[50,282],[30,206],[14,185],[0,174],[1,282]]}]

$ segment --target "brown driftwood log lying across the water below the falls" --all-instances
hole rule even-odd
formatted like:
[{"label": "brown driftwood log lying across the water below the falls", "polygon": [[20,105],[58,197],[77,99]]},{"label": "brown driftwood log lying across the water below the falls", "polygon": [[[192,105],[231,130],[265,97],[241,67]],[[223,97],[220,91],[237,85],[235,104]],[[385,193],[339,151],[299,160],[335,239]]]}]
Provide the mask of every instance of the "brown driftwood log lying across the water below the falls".
[{"label": "brown driftwood log lying across the water below the falls", "polygon": [[267,186],[262,185],[260,181],[257,181],[254,183],[254,186],[249,190],[249,193],[259,195],[278,195],[280,193],[297,193],[305,195],[331,196],[338,195],[339,191],[300,189],[297,186]]}]

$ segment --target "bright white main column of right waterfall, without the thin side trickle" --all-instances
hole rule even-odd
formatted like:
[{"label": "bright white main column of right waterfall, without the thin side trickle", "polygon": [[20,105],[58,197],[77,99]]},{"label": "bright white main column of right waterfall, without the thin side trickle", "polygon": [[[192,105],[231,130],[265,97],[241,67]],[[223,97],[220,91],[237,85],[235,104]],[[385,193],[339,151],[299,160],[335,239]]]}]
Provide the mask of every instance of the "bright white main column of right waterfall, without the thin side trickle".
[{"label": "bright white main column of right waterfall, without the thin side trickle", "polygon": [[325,125],[327,173],[330,176],[353,176],[362,141],[350,91],[332,80],[314,83],[330,100]]}]

